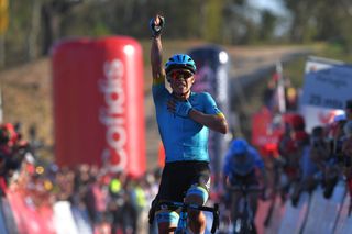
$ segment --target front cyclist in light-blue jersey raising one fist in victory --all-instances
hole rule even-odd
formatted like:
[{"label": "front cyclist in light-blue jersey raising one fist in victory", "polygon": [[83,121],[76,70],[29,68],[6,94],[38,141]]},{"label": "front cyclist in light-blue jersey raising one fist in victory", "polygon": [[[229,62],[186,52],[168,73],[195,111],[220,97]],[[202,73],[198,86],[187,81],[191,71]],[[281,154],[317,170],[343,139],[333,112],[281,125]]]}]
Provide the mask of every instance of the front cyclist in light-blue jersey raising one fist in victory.
[{"label": "front cyclist in light-blue jersey raising one fist in victory", "polygon": [[[162,37],[164,18],[156,15],[150,22],[152,31],[151,63],[152,93],[156,121],[165,147],[165,167],[158,194],[154,200],[172,200],[205,204],[209,196],[210,170],[208,155],[209,129],[226,134],[228,124],[212,97],[207,92],[193,92],[197,71],[194,59],[186,54],[172,56],[162,66]],[[165,78],[172,92],[165,87]],[[151,213],[154,210],[152,205]],[[205,215],[189,210],[189,227],[204,233]],[[156,207],[160,233],[170,233],[177,226],[176,211]]]}]

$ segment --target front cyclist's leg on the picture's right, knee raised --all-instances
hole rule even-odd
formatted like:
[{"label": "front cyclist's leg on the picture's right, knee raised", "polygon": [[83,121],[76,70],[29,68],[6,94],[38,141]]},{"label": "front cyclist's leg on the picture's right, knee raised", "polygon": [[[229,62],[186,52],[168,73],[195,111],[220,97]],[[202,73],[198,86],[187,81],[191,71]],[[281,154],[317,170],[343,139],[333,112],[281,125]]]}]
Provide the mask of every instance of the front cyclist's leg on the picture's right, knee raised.
[{"label": "front cyclist's leg on the picture's right, knee raised", "polygon": [[[185,202],[202,205],[208,201],[210,188],[210,169],[206,163],[195,164],[190,188]],[[201,211],[189,210],[189,227],[194,233],[205,233],[206,215]]]}]

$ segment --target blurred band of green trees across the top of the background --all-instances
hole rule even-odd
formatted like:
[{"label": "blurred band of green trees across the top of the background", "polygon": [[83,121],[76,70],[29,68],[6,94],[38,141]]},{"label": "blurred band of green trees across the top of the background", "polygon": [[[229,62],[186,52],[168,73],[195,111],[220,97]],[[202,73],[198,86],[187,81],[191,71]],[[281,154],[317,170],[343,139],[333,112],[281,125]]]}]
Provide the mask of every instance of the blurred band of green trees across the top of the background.
[{"label": "blurred band of green trees across the top of the background", "polygon": [[[148,21],[156,13],[165,16],[164,37],[169,40],[232,45],[329,42],[345,56],[352,52],[352,2],[345,0],[282,0],[289,11],[286,19],[256,9],[248,0],[35,0],[42,21],[35,31],[33,1],[9,1],[8,65],[29,58],[35,36],[31,32],[37,32],[36,46],[44,54],[54,41],[66,36],[118,34],[145,40],[150,37]],[[283,22],[286,27],[278,36],[276,30]]]}]

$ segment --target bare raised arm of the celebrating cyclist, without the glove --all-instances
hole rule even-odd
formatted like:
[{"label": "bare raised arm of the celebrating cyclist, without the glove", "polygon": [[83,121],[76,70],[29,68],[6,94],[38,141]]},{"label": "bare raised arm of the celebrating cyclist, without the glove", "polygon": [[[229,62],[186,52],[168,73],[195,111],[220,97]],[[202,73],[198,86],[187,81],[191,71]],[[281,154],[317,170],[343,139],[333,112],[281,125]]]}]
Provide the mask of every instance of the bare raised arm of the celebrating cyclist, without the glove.
[{"label": "bare raised arm of the celebrating cyclist, without the glove", "polygon": [[[160,24],[158,15],[155,18],[155,24]],[[152,37],[152,47],[151,47],[151,64],[152,64],[152,75],[153,75],[153,85],[160,85],[165,82],[165,70],[163,69],[163,46],[162,46],[162,36]]]}]

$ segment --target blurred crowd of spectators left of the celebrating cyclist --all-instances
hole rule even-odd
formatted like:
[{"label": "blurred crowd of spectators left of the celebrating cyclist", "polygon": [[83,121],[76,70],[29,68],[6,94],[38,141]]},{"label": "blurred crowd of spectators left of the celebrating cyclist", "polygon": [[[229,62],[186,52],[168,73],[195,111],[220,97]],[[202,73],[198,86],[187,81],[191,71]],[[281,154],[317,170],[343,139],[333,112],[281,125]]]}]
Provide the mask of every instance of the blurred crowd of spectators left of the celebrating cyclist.
[{"label": "blurred crowd of spectators left of the celebrating cyclist", "polygon": [[0,126],[0,191],[15,191],[33,208],[67,201],[87,215],[91,233],[155,233],[147,223],[161,169],[140,178],[94,165],[75,168],[41,165],[15,125]]}]

